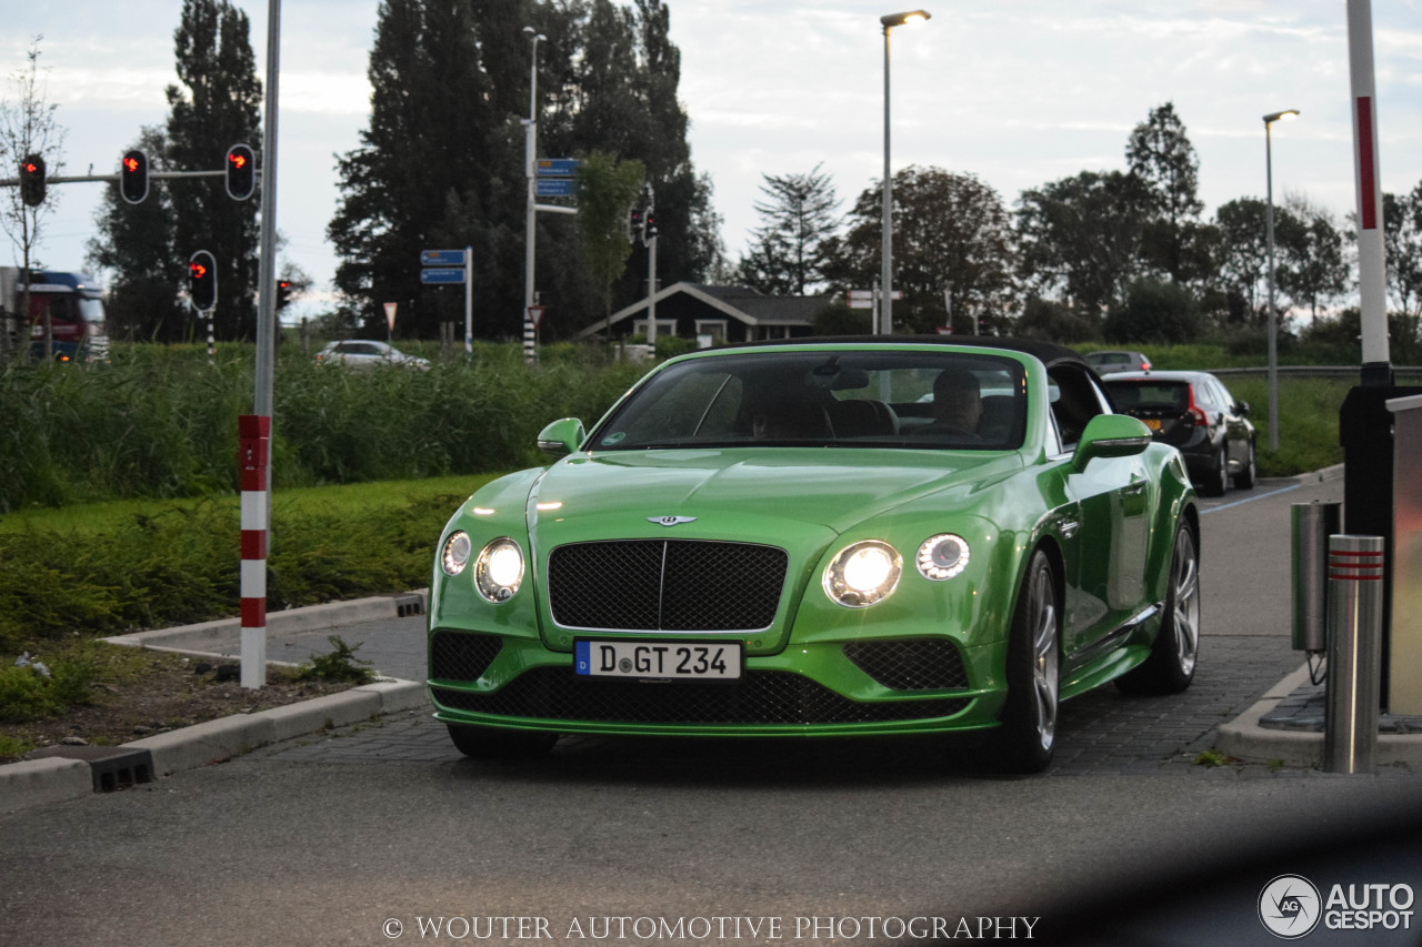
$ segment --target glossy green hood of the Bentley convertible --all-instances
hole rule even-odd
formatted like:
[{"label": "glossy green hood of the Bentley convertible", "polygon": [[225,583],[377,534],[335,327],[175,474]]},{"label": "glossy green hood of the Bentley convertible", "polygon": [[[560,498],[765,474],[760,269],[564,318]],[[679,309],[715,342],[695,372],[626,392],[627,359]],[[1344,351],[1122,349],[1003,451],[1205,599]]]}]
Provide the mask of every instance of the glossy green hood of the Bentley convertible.
[{"label": "glossy green hood of the Bentley convertible", "polygon": [[[1015,454],[758,448],[579,454],[555,464],[529,498],[545,540],[664,535],[663,518],[694,516],[678,535],[775,542],[786,528],[843,533],[957,485],[1020,468]],[[815,530],[818,532],[818,530]]]}]

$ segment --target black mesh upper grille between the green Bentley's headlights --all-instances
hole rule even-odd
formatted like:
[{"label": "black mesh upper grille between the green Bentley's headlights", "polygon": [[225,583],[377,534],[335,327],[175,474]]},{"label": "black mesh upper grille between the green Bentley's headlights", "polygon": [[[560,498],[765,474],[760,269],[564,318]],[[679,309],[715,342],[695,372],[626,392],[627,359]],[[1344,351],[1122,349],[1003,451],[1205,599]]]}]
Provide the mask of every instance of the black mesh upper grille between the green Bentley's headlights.
[{"label": "black mesh upper grille between the green Bentley's headlights", "polygon": [[775,620],[788,563],[752,543],[572,543],[549,556],[549,606],[565,628],[758,631]]}]

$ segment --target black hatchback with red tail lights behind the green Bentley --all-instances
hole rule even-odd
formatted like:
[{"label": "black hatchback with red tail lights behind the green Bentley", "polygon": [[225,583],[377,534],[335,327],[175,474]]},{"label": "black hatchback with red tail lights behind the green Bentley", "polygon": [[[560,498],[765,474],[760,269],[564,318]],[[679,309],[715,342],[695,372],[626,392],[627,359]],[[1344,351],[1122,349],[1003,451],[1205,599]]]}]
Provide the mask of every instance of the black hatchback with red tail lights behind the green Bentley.
[{"label": "black hatchback with red tail lights behind the green Bentley", "polygon": [[1140,418],[1155,439],[1185,455],[1203,493],[1223,496],[1229,481],[1254,486],[1254,425],[1249,402],[1236,401],[1206,371],[1121,371],[1102,381],[1116,411]]}]

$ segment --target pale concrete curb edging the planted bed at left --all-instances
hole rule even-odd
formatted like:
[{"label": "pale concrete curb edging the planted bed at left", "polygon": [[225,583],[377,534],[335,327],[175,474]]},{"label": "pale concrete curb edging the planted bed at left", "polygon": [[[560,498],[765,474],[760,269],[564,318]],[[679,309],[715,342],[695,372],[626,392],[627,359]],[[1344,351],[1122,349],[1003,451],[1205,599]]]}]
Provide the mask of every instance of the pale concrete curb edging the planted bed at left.
[{"label": "pale concrete curb edging the planted bed at left", "polygon": [[[348,623],[405,617],[421,614],[424,601],[422,593],[405,593],[289,609],[267,616],[267,628],[284,633],[319,631]],[[230,634],[239,627],[239,619],[222,619],[102,640],[129,647],[205,654],[216,641],[218,633]],[[168,776],[182,769],[226,762],[259,747],[306,737],[328,727],[358,724],[381,714],[414,711],[427,704],[424,683],[380,678],[340,694],[327,694],[255,714],[233,714],[166,734],[144,737],[122,744],[121,748],[146,751],[152,756],[154,772]],[[82,759],[48,756],[0,766],[0,812],[90,795],[94,795],[92,769]]]}]

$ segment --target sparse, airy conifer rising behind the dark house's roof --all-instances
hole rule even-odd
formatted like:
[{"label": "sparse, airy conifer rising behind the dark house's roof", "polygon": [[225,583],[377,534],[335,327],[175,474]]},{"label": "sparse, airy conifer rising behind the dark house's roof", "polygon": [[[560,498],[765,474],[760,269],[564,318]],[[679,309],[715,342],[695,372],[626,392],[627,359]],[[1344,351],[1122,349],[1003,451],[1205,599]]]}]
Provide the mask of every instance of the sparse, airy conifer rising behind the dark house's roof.
[{"label": "sparse, airy conifer rising behind the dark house's roof", "polygon": [[741,260],[739,283],[761,293],[795,296],[823,286],[839,229],[839,198],[822,166],[809,173],[761,175],[765,199],[755,202],[761,226]]}]

